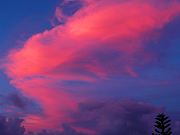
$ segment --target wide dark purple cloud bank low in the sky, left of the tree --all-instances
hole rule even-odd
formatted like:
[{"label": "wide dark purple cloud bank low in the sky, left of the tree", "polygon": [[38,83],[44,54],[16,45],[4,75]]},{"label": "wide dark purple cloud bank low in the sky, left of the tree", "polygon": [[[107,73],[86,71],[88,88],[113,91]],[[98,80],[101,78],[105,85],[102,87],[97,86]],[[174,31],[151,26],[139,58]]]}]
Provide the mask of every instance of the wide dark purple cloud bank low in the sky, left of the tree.
[{"label": "wide dark purple cloud bank low in the sky, left of the tree", "polygon": [[143,102],[89,102],[80,105],[72,125],[98,135],[147,135],[151,134],[154,116],[161,111]]}]

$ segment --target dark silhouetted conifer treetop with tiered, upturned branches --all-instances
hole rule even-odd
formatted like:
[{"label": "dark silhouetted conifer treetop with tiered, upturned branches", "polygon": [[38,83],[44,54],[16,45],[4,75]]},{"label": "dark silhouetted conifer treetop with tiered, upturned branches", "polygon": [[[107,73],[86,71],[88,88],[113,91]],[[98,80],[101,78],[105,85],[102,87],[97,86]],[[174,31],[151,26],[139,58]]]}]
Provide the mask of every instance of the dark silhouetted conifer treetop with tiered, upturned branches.
[{"label": "dark silhouetted conifer treetop with tiered, upturned branches", "polygon": [[164,113],[160,113],[156,116],[155,130],[152,135],[172,135],[171,120]]}]

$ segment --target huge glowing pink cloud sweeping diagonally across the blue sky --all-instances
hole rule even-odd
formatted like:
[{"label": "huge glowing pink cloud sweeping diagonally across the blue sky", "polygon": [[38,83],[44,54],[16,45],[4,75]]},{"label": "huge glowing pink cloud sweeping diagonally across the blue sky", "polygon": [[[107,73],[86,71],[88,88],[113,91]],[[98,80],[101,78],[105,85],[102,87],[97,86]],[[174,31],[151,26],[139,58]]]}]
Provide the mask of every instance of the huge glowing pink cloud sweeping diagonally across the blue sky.
[{"label": "huge glowing pink cloud sweeping diagonally across the blue sky", "polygon": [[113,74],[137,77],[133,66],[153,59],[144,52],[145,42],[157,38],[155,31],[179,14],[176,1],[92,0],[65,24],[11,50],[3,63],[11,83],[44,110],[43,116],[27,116],[26,126],[58,128],[73,121],[68,113],[77,110],[83,97],[75,97],[63,81],[95,82]]}]

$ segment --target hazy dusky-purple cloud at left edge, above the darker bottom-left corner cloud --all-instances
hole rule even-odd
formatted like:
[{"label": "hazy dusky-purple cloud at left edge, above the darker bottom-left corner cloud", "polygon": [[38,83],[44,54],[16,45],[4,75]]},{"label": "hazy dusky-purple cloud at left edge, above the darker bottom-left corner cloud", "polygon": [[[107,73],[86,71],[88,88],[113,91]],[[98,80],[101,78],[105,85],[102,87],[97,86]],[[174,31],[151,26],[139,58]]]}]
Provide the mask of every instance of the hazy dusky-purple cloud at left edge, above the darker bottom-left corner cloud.
[{"label": "hazy dusky-purple cloud at left edge, above the darker bottom-left corner cloud", "polygon": [[24,117],[29,114],[42,114],[42,109],[33,99],[20,93],[0,95],[0,116]]}]

